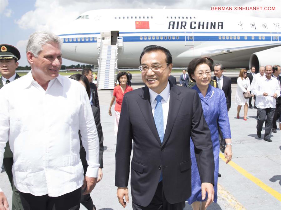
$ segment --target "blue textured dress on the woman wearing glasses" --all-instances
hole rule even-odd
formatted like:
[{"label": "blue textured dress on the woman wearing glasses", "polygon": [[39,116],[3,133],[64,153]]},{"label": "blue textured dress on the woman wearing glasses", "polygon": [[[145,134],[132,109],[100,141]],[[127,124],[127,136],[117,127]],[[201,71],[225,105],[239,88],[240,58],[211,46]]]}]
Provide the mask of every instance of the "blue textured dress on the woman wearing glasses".
[{"label": "blue textured dress on the woman wearing glasses", "polygon": [[[203,108],[204,118],[211,131],[211,139],[213,142],[213,153],[215,161],[215,196],[214,202],[217,203],[217,190],[218,190],[218,160],[219,160],[219,134],[218,125],[222,131],[223,139],[231,138],[230,125],[228,120],[226,99],[223,90],[215,88],[209,85],[207,94],[203,97],[202,93],[198,89],[197,85],[193,87],[197,90],[199,97],[201,99],[201,104]],[[202,200],[201,194],[201,180],[199,177],[199,172],[197,168],[196,158],[194,154],[194,144],[190,139],[190,154],[191,154],[191,196],[187,199],[188,204],[194,201],[206,201],[208,196],[206,195],[205,200]]]}]

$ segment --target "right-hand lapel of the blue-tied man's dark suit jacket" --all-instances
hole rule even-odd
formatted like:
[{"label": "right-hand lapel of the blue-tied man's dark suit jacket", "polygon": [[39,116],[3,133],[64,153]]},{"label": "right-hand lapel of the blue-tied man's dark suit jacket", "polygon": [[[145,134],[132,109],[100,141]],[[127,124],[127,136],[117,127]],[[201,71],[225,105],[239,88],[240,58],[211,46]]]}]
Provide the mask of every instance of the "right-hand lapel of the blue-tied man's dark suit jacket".
[{"label": "right-hand lapel of the blue-tied man's dark suit jacket", "polygon": [[173,84],[171,84],[171,83],[170,83],[170,86],[171,86],[171,90],[170,90],[169,113],[168,113],[168,120],[167,120],[167,125],[166,125],[166,130],[165,130],[162,145],[165,144],[165,142],[167,141],[167,139],[172,131],[173,125],[178,116],[178,110],[179,110],[180,105],[183,100],[183,98],[179,96],[181,91],[178,90],[178,88],[173,86]]}]

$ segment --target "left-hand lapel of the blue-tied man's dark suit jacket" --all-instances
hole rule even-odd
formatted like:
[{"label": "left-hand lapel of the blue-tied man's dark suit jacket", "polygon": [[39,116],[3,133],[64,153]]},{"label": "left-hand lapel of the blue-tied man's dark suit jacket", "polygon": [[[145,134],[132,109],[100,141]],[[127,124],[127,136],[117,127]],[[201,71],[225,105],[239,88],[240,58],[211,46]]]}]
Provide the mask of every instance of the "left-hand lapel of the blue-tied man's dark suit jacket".
[{"label": "left-hand lapel of the blue-tied man's dark suit jacket", "polygon": [[143,92],[142,92],[142,95],[140,95],[140,96],[141,96],[141,98],[139,98],[137,100],[138,106],[143,114],[143,117],[144,117],[148,127],[150,128],[151,132],[153,133],[155,139],[161,145],[161,141],[160,141],[158,131],[157,131],[156,125],[154,123],[154,118],[153,118],[152,111],[151,111],[148,87],[143,87]]}]

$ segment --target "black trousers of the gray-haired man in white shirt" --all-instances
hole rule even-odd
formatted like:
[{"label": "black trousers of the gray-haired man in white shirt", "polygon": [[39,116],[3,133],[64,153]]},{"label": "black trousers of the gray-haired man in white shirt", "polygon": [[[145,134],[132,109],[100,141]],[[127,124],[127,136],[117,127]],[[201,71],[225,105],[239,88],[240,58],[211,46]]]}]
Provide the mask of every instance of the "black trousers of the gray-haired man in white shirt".
[{"label": "black trousers of the gray-haired man in white shirt", "polygon": [[19,192],[24,210],[79,210],[81,188],[58,197]]}]

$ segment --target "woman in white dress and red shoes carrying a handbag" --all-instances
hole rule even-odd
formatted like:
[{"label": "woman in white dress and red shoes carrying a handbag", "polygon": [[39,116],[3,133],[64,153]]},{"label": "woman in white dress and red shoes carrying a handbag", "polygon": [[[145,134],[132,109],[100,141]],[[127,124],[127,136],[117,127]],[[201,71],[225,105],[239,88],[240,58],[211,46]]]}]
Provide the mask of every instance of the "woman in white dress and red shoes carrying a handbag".
[{"label": "woman in white dress and red shoes carrying a handbag", "polygon": [[244,120],[247,120],[247,112],[248,112],[248,105],[249,99],[245,99],[243,93],[250,93],[251,86],[250,80],[247,77],[247,70],[241,69],[239,77],[237,79],[237,89],[235,95],[235,104],[237,104],[237,118],[239,119],[239,113],[241,107],[244,105]]}]

